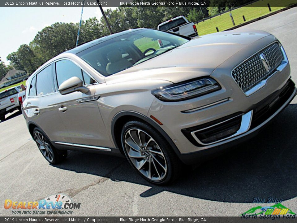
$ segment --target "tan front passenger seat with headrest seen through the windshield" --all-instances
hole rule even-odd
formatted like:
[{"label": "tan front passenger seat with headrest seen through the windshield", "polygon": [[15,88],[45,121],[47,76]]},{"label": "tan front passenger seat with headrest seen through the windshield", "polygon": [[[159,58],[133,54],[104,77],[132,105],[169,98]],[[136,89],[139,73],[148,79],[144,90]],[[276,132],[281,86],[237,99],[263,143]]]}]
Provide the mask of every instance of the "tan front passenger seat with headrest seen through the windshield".
[{"label": "tan front passenger seat with headrest seen through the windshield", "polygon": [[113,49],[107,53],[107,58],[109,60],[109,63],[106,65],[106,72],[108,74],[114,74],[132,65],[128,60],[122,58],[122,53],[118,49]]}]

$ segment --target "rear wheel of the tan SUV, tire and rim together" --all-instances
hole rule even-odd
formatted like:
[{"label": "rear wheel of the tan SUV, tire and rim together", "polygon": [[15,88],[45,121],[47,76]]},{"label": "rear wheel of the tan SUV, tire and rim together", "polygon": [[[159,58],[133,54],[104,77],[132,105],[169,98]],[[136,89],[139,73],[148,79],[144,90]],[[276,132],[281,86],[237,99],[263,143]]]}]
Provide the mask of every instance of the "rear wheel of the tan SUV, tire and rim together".
[{"label": "rear wheel of the tan SUV, tire and rim together", "polygon": [[56,149],[41,129],[36,127],[33,136],[39,151],[50,164],[58,164],[66,159],[67,150]]}]

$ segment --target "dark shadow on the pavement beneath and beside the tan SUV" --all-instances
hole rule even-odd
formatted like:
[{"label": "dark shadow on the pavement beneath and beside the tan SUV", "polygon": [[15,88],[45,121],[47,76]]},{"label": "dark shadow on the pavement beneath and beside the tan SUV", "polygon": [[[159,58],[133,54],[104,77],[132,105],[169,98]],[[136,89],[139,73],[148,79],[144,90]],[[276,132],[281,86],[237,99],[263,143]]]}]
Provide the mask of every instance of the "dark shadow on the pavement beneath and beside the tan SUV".
[{"label": "dark shadow on the pavement beneath and beside the tan SUV", "polygon": [[148,183],[120,157],[71,151],[56,167],[151,187],[141,197],[169,191],[221,202],[252,203],[255,197],[284,201],[297,196],[296,127],[297,104],[290,104],[256,137],[187,171],[169,186]]}]

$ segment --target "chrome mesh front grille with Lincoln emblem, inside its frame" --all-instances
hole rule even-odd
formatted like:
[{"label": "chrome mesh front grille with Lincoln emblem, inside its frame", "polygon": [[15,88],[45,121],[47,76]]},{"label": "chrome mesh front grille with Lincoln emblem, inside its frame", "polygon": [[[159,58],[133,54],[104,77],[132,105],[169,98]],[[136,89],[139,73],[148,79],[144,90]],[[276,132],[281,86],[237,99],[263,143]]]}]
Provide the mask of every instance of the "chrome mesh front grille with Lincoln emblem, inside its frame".
[{"label": "chrome mesh front grille with Lincoln emblem, inside its frame", "polygon": [[239,64],[232,71],[232,77],[245,94],[266,80],[282,63],[284,55],[280,44],[274,42]]}]

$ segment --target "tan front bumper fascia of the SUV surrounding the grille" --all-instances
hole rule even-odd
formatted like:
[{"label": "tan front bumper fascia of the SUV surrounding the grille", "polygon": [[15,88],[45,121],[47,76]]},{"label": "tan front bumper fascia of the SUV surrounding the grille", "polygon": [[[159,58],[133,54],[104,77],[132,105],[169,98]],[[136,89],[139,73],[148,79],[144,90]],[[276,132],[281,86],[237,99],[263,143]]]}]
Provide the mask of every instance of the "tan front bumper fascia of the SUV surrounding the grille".
[{"label": "tan front bumper fascia of the SUV surrounding the grille", "polygon": [[[156,98],[147,116],[152,115],[163,123],[160,127],[172,139],[180,154],[206,154],[215,147],[225,147],[251,135],[278,114],[296,94],[287,60],[284,65],[281,64],[281,69],[277,68],[265,80],[264,85],[249,95],[231,77],[232,69],[248,58],[247,55],[254,55],[269,44],[270,39],[263,38],[216,68],[210,77],[222,86],[221,90],[180,102],[163,102]],[[286,92],[283,96],[282,91],[288,86],[290,93]],[[278,100],[279,95],[282,100]],[[269,109],[272,107],[274,109]],[[224,122],[228,125],[222,124]],[[215,135],[216,131],[221,135]]]}]

